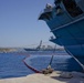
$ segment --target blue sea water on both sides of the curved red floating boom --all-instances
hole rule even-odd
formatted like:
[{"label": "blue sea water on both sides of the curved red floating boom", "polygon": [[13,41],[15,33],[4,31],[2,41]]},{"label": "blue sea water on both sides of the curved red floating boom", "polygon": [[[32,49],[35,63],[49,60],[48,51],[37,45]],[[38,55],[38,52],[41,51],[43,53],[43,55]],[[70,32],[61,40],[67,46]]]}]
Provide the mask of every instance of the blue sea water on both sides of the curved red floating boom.
[{"label": "blue sea water on both sides of the curved red floating boom", "polygon": [[[42,52],[33,52],[29,58],[28,55],[29,53],[0,53],[0,79],[20,77],[34,73],[24,65],[24,59],[25,63],[34,69],[40,71],[46,69],[51,61],[52,53],[42,54]],[[52,68],[56,71],[82,71],[78,63],[65,52],[55,53],[52,61]]]}]

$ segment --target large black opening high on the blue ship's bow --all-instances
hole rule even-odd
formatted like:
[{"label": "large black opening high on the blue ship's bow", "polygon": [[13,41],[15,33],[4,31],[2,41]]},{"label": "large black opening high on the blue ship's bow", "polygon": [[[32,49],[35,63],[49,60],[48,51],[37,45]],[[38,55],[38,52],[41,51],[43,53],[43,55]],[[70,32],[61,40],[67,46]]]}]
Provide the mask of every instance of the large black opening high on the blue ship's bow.
[{"label": "large black opening high on the blue ship's bow", "polygon": [[83,13],[81,8],[76,4],[76,2],[74,0],[63,0],[63,3],[65,6],[65,9],[67,10],[67,12],[73,18],[75,18],[75,17],[77,17],[77,15]]}]

